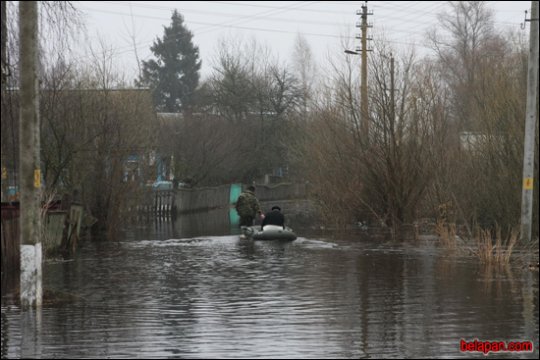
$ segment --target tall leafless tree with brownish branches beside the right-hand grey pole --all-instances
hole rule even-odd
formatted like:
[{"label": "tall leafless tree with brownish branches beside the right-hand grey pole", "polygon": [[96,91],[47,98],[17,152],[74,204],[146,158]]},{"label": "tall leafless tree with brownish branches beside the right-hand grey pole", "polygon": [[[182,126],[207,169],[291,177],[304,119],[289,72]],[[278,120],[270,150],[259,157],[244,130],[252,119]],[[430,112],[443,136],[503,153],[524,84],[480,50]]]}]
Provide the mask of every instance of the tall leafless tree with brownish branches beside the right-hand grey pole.
[{"label": "tall leafless tree with brownish branches beside the right-hand grey pole", "polygon": [[452,2],[451,9],[439,17],[445,36],[430,36],[433,76],[449,89],[455,123],[441,137],[449,146],[439,160],[446,168],[437,167],[435,186],[447,189],[439,202],[459,205],[466,221],[509,229],[519,221],[526,50],[496,32],[485,2]]}]

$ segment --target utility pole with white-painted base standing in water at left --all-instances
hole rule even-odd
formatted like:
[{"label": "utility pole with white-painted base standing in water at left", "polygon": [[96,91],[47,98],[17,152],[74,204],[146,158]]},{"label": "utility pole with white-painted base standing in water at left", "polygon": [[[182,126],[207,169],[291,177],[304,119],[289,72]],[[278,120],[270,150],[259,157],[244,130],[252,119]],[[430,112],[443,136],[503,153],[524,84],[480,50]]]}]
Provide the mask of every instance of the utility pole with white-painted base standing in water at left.
[{"label": "utility pole with white-painted base standing in water at left", "polygon": [[21,308],[41,307],[40,141],[37,1],[19,2]]}]

